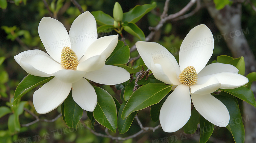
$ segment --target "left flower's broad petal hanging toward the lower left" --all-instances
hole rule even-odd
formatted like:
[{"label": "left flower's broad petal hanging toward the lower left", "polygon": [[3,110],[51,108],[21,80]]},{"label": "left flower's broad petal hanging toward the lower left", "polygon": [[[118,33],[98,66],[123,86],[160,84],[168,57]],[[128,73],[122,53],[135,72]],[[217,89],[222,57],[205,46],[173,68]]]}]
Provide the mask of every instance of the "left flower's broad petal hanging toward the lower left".
[{"label": "left flower's broad petal hanging toward the lower left", "polygon": [[69,95],[71,83],[64,83],[53,78],[36,90],[33,95],[33,104],[39,114],[45,114],[57,108]]}]

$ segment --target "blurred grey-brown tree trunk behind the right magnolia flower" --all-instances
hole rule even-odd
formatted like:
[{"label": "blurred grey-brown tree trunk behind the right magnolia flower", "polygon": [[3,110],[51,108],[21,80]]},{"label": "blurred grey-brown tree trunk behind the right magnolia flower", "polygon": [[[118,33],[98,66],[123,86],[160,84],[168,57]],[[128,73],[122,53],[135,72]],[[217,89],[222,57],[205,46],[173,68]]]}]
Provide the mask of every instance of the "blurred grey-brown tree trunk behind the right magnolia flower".
[{"label": "blurred grey-brown tree trunk behind the right magnolia flower", "polygon": [[[206,7],[214,19],[214,22],[225,42],[232,52],[234,58],[243,56],[245,59],[245,75],[256,71],[256,61],[250,49],[245,34],[249,34],[249,29],[242,28],[241,15],[242,4],[234,2],[231,6],[224,9],[215,9],[212,0],[204,0]],[[254,91],[255,95],[255,91]],[[245,143],[256,142],[256,108],[244,102],[244,118],[248,117],[245,124]]]}]

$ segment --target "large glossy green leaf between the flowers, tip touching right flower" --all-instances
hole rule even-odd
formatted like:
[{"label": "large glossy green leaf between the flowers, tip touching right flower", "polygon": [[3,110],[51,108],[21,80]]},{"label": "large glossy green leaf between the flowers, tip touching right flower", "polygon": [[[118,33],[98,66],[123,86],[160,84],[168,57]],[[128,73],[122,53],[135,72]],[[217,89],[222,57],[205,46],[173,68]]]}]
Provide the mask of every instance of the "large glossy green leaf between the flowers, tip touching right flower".
[{"label": "large glossy green leaf between the flowers, tip touching right flower", "polygon": [[135,111],[157,104],[171,91],[171,88],[171,85],[162,83],[148,83],[141,86],[127,101],[122,112],[122,119],[125,119]]}]

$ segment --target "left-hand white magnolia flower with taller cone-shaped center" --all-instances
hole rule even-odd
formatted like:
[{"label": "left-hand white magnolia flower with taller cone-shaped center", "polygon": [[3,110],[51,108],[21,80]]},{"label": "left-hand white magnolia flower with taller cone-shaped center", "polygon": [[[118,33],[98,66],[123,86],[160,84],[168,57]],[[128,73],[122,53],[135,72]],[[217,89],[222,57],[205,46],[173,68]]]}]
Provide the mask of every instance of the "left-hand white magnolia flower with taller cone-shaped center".
[{"label": "left-hand white magnolia flower with taller cone-shaped center", "polygon": [[117,45],[118,35],[97,39],[96,20],[89,11],[75,19],[69,33],[59,21],[44,17],[38,33],[49,55],[41,50],[29,50],[14,57],[31,75],[54,76],[34,92],[33,104],[38,113],[45,114],[57,108],[71,88],[74,101],[82,109],[93,111],[97,96],[86,79],[107,85],[130,79],[125,69],[105,65]]}]

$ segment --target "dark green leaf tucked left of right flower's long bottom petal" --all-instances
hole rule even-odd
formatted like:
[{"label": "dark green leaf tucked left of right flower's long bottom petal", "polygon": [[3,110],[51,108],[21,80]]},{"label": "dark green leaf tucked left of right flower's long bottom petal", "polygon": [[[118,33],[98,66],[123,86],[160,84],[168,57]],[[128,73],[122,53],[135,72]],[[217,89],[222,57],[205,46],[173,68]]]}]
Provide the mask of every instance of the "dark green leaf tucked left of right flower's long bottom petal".
[{"label": "dark green leaf tucked left of right flower's long bottom petal", "polygon": [[159,120],[161,107],[168,96],[169,95],[165,96],[159,103],[150,107],[150,117],[153,122],[157,122]]}]

